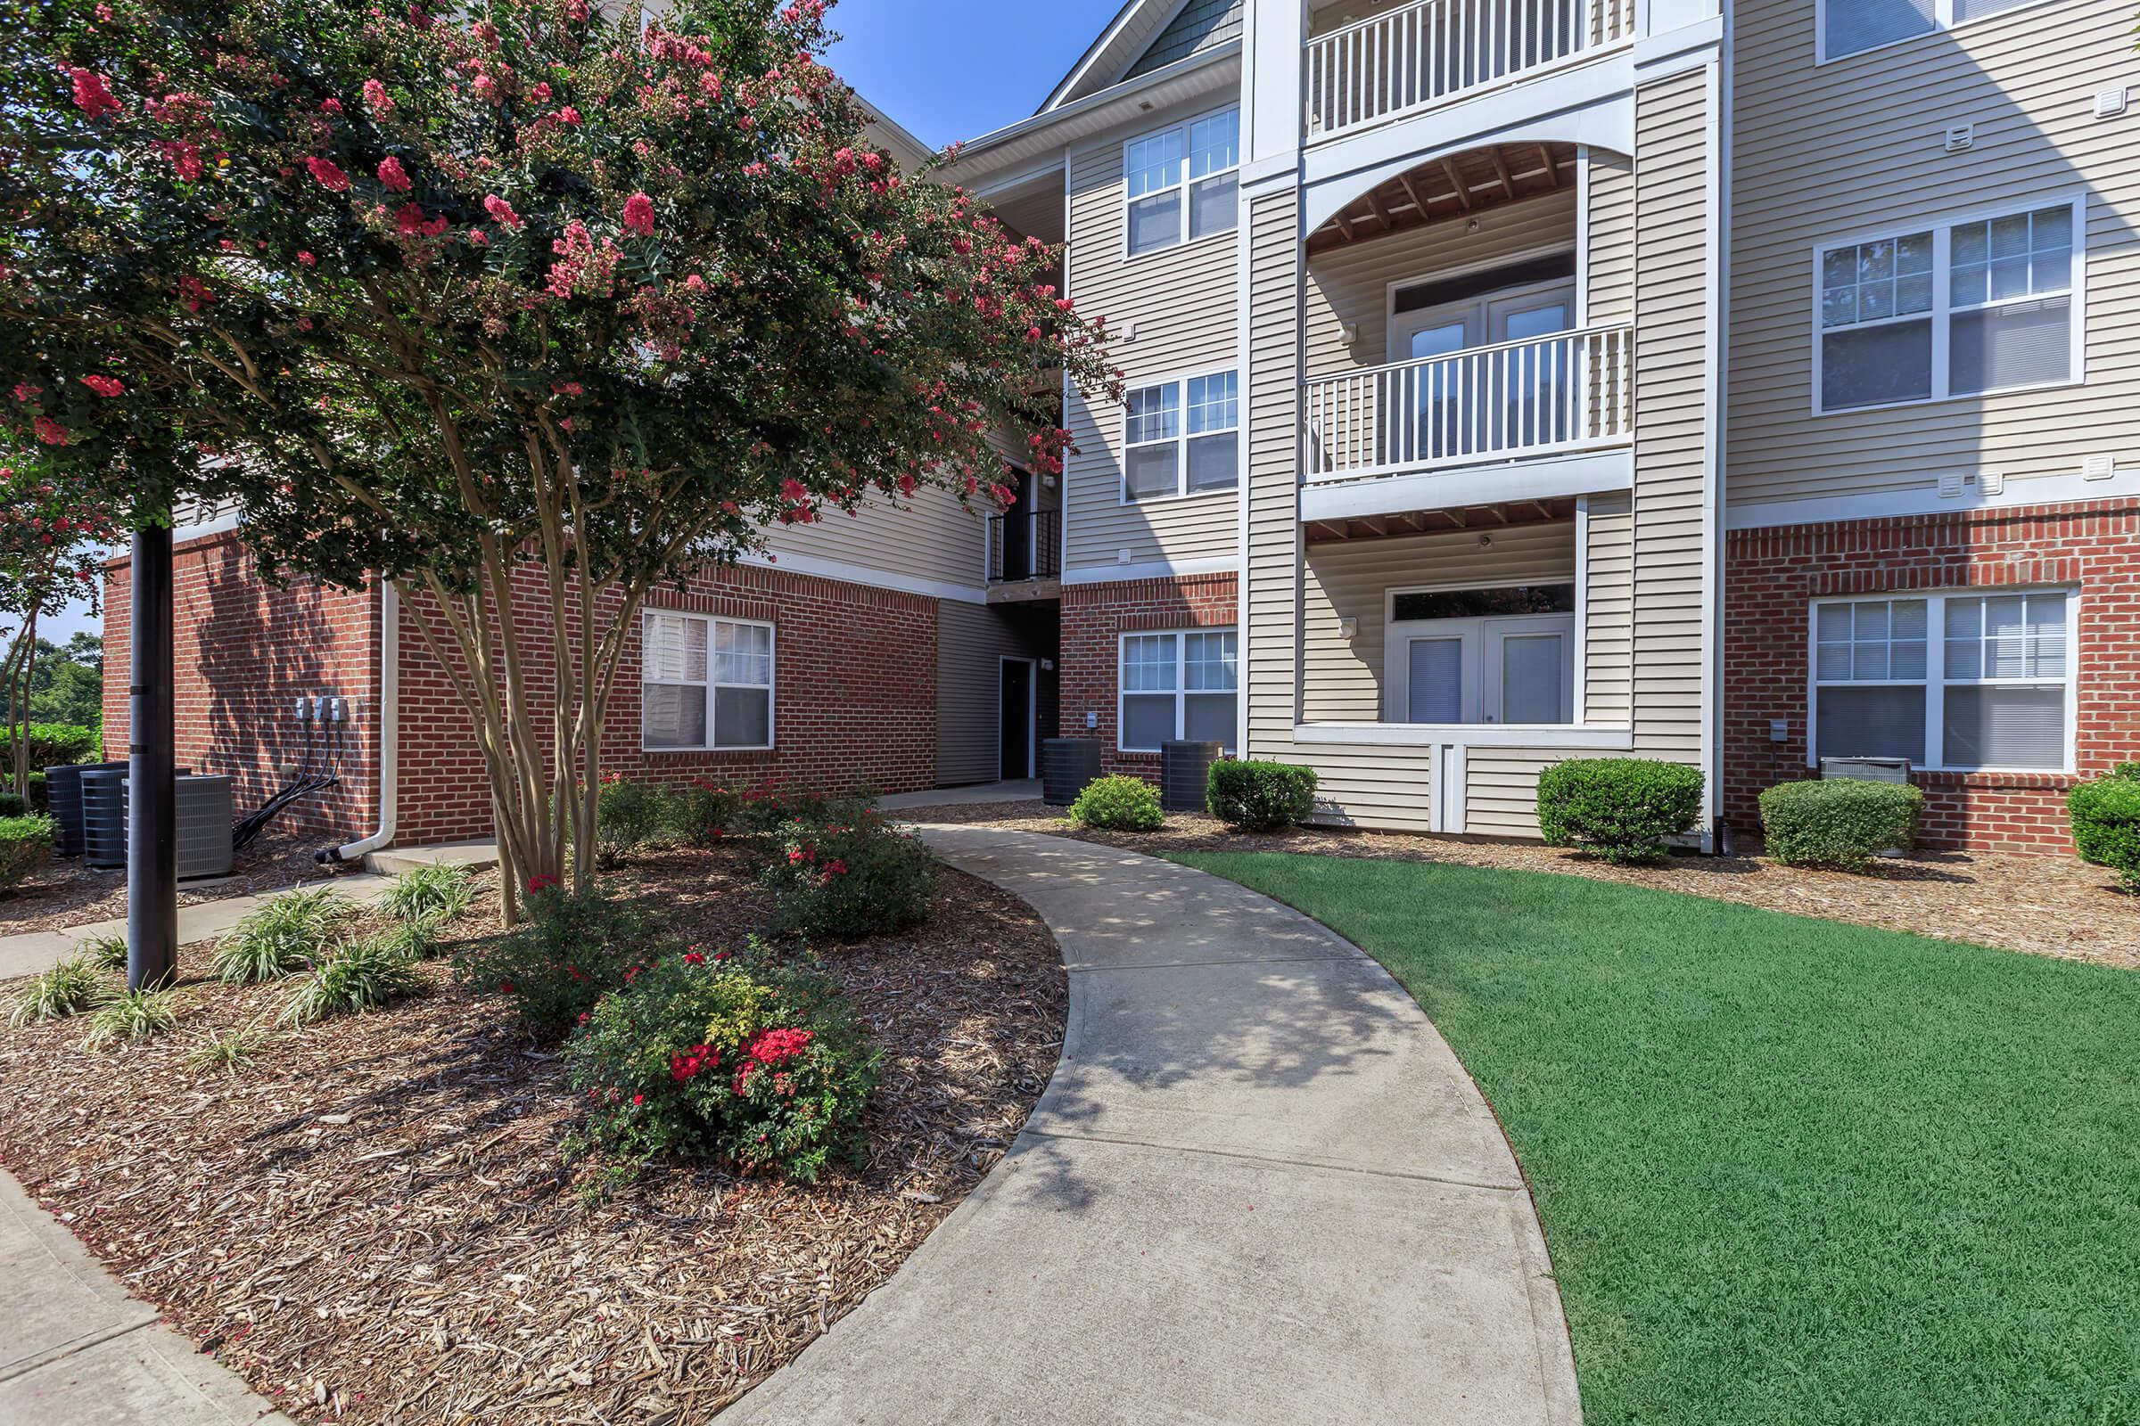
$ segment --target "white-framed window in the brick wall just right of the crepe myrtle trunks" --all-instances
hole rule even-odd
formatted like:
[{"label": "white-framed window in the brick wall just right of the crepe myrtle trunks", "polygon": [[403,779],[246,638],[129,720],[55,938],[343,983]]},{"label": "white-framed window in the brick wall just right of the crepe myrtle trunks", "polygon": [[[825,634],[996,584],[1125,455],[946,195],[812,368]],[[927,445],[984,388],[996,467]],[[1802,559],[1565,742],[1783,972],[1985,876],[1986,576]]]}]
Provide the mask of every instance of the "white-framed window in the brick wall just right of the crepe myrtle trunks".
[{"label": "white-framed window in the brick wall just right of the crepe myrtle trunks", "polygon": [[642,746],[773,746],[773,624],[648,609],[640,633]]}]

